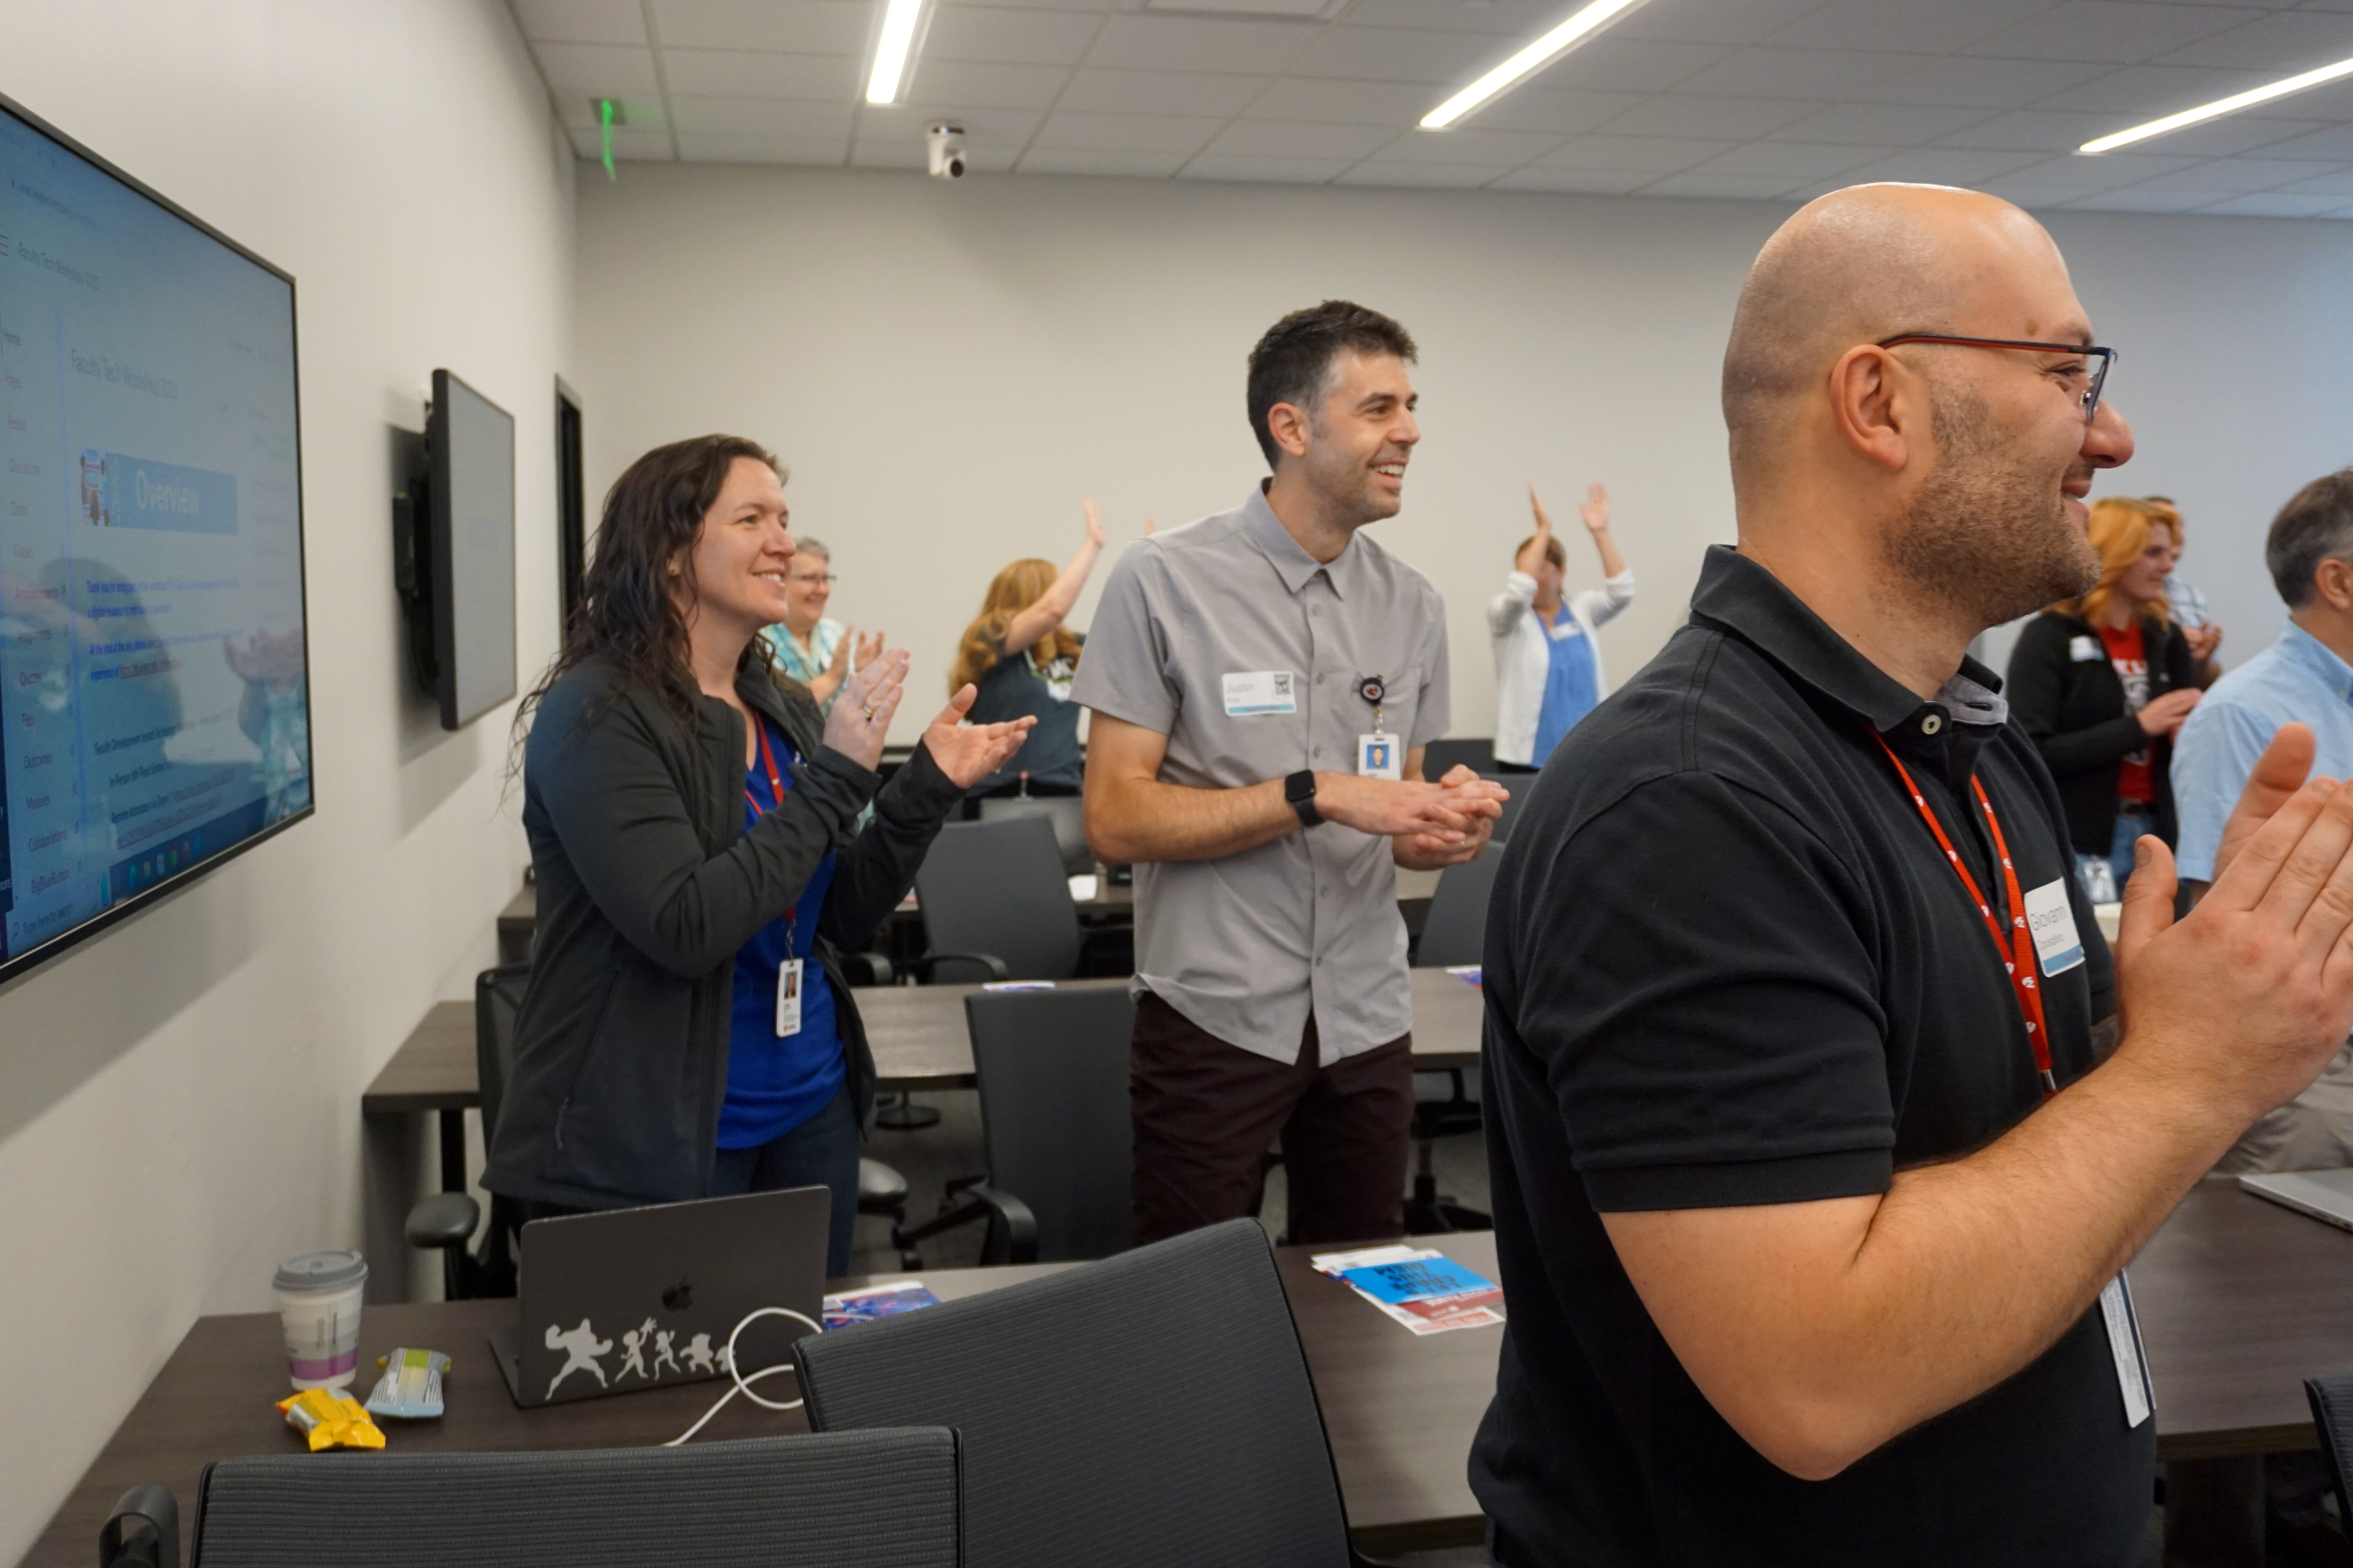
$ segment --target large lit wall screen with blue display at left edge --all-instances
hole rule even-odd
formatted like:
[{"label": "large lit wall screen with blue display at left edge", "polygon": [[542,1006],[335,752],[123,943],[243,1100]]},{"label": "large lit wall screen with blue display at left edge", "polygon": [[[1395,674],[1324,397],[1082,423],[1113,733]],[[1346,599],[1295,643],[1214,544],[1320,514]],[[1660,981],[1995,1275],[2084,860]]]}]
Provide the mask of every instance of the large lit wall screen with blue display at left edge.
[{"label": "large lit wall screen with blue display at left edge", "polygon": [[311,813],[294,280],[0,99],[0,978]]}]

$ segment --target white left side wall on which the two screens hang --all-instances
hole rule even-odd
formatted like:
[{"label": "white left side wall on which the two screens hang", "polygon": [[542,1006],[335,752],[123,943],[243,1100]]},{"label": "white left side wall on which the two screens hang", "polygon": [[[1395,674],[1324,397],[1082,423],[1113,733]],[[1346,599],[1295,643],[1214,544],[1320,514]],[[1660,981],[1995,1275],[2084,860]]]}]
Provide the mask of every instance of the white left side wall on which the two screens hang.
[{"label": "white left side wall on which the two screens hang", "polygon": [[360,1091],[522,875],[508,712],[405,684],[391,454],[435,364],[515,411],[544,663],[574,169],[496,0],[9,0],[0,92],[296,277],[318,764],[313,820],[0,994],[14,1561],[198,1314],[360,1241]]}]

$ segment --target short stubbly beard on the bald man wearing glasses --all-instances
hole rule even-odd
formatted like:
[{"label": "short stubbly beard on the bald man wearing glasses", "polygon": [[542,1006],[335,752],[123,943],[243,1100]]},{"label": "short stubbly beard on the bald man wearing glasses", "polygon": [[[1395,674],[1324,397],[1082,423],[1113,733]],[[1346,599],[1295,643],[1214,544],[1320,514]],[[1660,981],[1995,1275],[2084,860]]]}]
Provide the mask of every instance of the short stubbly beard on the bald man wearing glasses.
[{"label": "short stubbly beard on the bald man wearing glasses", "polygon": [[2017,463],[1981,397],[1932,386],[1937,468],[1887,531],[1885,559],[1972,625],[2017,621],[2099,583],[2099,552],[2068,522],[2047,470]]}]

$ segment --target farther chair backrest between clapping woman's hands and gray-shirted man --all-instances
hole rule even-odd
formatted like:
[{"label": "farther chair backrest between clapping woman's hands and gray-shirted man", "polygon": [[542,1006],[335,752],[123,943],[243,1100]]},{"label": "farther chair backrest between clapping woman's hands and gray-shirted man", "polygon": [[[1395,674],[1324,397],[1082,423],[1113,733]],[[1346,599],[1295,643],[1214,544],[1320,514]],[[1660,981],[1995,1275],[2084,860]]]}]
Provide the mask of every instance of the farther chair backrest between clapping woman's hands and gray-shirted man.
[{"label": "farther chair backrest between clapping woman's hands and gray-shirted man", "polygon": [[[915,870],[915,900],[932,952],[988,952],[1012,980],[1078,973],[1078,907],[1054,827],[1040,816],[948,823]],[[965,969],[941,964],[941,969]],[[979,971],[934,980],[986,980]]]}]

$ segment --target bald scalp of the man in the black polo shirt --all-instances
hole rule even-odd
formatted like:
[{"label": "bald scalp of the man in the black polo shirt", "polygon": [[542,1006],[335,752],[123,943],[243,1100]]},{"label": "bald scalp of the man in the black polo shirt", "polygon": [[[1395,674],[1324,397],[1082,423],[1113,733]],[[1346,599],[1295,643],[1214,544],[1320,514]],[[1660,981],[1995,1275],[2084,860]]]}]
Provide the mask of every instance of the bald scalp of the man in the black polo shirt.
[{"label": "bald scalp of the man in the black polo shirt", "polygon": [[1732,315],[1725,425],[1734,489],[1779,463],[1798,411],[1809,395],[1826,395],[1845,350],[1899,331],[2012,336],[2019,327],[1995,322],[1986,306],[2040,294],[2033,282],[2047,284],[2049,270],[2064,282],[2052,237],[1993,195],[1852,186],[1800,207],[1758,252]]}]

